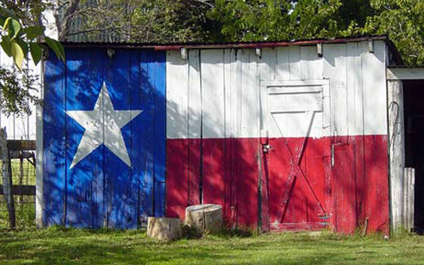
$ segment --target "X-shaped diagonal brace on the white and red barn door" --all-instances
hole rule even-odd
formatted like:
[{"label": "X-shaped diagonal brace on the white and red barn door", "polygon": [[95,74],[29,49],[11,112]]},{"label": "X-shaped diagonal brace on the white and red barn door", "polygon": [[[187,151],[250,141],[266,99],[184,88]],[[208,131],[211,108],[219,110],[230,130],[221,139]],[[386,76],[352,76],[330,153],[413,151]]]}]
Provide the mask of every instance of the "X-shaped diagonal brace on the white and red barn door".
[{"label": "X-shaped diagonal brace on the white and red barn door", "polygon": [[310,192],[312,193],[313,197],[315,198],[315,200],[318,204],[318,208],[321,210],[321,213],[323,215],[326,214],[325,211],[324,211],[324,208],[322,207],[321,202],[319,201],[317,195],[315,194],[314,190],[312,189],[312,186],[311,186],[306,174],[300,168],[300,160],[301,160],[302,154],[305,150],[305,144],[306,144],[307,137],[309,135],[310,127],[312,125],[314,111],[307,111],[305,113],[306,113],[306,124],[305,124],[306,133],[305,133],[305,137],[302,140],[302,144],[301,144],[300,148],[298,148],[297,150],[295,149],[296,153],[294,153],[294,154],[293,154],[293,151],[291,150],[290,146],[288,145],[287,140],[285,139],[278,123],[276,122],[274,115],[271,113],[271,117],[273,118],[281,136],[284,138],[285,146],[287,147],[287,150],[290,153],[290,172],[289,172],[289,175],[287,176],[287,180],[286,180],[286,183],[285,183],[285,190],[284,190],[284,193],[282,195],[282,200],[280,202],[280,208],[279,208],[280,210],[279,210],[279,213],[277,215],[278,219],[275,220],[276,223],[279,223],[279,221],[281,221],[282,218],[285,215],[285,212],[286,212],[286,209],[287,209],[287,203],[288,203],[288,200],[290,198],[290,193],[293,190],[293,184],[294,184],[294,181],[295,181],[295,177],[298,176],[298,175],[303,176],[304,180],[307,183],[307,186],[308,186]]}]

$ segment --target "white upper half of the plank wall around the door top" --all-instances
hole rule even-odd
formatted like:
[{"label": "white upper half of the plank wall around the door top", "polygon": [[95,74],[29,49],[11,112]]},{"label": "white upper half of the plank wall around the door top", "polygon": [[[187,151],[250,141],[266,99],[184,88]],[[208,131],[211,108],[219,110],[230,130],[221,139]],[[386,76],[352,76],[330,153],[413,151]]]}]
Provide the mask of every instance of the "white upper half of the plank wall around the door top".
[{"label": "white upper half of the plank wall around the door top", "polygon": [[[323,53],[315,45],[263,48],[260,58],[254,49],[204,49],[184,60],[167,51],[167,137],[259,137],[261,84],[323,79],[330,127],[310,136],[387,134],[385,42],[374,41],[374,53],[368,42],[324,44]],[[325,126],[318,116],[313,126]],[[304,135],[304,123],[290,125],[285,137]]]}]

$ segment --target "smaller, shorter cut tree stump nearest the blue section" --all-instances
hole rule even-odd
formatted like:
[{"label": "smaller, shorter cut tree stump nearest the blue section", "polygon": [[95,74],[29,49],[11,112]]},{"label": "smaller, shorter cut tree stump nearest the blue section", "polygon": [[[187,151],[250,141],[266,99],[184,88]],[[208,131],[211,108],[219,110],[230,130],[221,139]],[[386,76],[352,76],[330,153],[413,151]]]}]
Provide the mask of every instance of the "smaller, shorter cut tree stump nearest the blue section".
[{"label": "smaller, shorter cut tree stump nearest the blue section", "polygon": [[148,218],[147,236],[161,240],[180,238],[181,221],[179,218],[152,217]]}]

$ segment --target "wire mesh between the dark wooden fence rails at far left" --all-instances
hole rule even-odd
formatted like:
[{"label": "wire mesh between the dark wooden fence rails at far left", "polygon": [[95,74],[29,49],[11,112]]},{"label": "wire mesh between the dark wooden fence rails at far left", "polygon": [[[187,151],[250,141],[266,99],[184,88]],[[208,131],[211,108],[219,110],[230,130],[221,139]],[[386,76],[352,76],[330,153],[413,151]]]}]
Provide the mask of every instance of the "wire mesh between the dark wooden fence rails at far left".
[{"label": "wire mesh between the dark wooden fence rails at far left", "polygon": [[[0,160],[0,168],[1,168]],[[35,167],[27,159],[11,159],[12,184],[34,185],[36,183]],[[0,177],[0,185],[3,179]],[[13,195],[16,228],[35,227],[35,196]],[[6,196],[0,195],[0,229],[9,229],[9,212]]]}]

